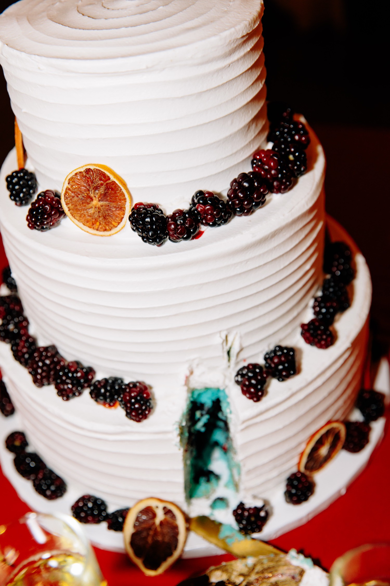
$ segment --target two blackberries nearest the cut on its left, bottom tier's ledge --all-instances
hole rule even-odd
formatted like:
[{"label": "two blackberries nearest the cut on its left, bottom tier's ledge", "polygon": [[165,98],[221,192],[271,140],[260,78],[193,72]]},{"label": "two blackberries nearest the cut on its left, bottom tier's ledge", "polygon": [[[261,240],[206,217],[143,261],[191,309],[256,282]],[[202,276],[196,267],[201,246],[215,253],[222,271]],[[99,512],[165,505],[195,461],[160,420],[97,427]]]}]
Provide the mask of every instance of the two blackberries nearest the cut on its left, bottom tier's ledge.
[{"label": "two blackberries nearest the cut on its left, bottom tier's ledge", "polygon": [[153,410],[153,398],[146,384],[139,380],[125,383],[117,377],[95,380],[89,391],[91,397],[105,407],[125,410],[126,417],[133,421],[145,420]]}]

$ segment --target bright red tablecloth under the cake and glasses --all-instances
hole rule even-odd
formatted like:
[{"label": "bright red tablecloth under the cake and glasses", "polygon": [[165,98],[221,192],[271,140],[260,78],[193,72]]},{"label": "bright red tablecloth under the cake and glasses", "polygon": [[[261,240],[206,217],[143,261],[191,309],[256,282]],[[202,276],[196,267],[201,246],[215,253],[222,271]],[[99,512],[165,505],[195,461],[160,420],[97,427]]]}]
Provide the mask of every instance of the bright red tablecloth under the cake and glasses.
[{"label": "bright red tablecloth under the cake and glasses", "polygon": [[[0,241],[0,269],[6,258]],[[1,414],[0,414],[1,425]],[[295,547],[311,556],[324,568],[344,551],[363,543],[390,541],[390,434],[372,454],[364,472],[344,496],[302,527],[272,541],[282,550]],[[27,512],[29,507],[16,494],[0,471],[0,524],[8,523]],[[95,548],[103,575],[109,586],[175,586],[184,578],[205,570],[209,565],[232,559],[232,556],[179,560],[171,570],[157,578],[145,577],[125,554]]]}]

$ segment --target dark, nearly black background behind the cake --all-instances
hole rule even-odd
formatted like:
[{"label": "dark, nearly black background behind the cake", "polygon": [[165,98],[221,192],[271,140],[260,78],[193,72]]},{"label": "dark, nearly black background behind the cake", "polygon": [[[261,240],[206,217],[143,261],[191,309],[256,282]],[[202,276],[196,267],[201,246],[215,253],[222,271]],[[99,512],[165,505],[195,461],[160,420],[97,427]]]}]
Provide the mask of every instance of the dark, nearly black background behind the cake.
[{"label": "dark, nearly black background behind the cake", "polygon": [[[10,4],[1,0],[0,11]],[[388,5],[265,0],[263,17],[268,99],[303,113],[323,144],[327,211],[367,258],[372,326],[382,350],[390,342]],[[14,144],[2,74],[0,108],[2,161]]]}]

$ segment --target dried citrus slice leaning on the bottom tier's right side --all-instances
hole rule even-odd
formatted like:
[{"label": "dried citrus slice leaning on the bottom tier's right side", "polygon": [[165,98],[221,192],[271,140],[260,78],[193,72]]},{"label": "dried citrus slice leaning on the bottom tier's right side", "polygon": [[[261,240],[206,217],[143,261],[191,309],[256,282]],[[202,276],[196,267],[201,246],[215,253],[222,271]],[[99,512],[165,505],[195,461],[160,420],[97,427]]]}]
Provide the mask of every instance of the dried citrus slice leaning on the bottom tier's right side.
[{"label": "dried citrus slice leaning on the bottom tier's right side", "polygon": [[343,447],[346,426],[341,421],[330,421],[312,435],[299,458],[299,472],[312,474],[321,470]]}]

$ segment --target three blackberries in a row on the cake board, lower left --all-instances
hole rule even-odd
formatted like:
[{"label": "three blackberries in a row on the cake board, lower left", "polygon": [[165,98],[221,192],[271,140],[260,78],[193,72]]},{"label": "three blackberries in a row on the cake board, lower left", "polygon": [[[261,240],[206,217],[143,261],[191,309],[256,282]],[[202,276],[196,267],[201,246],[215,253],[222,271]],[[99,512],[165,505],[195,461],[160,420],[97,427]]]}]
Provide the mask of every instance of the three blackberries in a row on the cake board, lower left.
[{"label": "three blackberries in a row on the cake board, lower left", "polygon": [[13,464],[23,478],[32,481],[33,487],[45,499],[54,500],[64,495],[66,484],[63,479],[46,466],[35,452],[26,452],[28,447],[25,434],[13,431],[5,440],[5,447],[15,454]]}]

